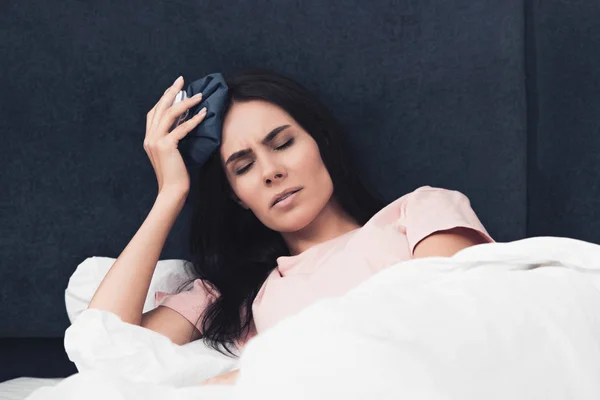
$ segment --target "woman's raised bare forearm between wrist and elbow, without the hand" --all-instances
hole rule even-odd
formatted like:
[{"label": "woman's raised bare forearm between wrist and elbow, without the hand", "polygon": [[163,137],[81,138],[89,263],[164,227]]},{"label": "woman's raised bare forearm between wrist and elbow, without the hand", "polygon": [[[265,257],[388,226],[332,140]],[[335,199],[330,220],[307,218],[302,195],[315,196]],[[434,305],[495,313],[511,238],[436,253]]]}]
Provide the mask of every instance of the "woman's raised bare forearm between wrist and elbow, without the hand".
[{"label": "woman's raised bare forearm between wrist and elbow, without the hand", "polygon": [[186,195],[159,193],[142,226],[114,262],[88,308],[110,311],[140,325],[150,281]]}]

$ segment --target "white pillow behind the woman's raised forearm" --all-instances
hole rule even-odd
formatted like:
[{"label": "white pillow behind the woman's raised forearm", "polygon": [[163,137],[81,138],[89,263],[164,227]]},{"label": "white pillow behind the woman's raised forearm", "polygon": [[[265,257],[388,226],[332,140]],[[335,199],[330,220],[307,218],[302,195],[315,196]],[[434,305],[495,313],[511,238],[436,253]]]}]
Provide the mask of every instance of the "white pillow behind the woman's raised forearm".
[{"label": "white pillow behind the woman's raised forearm", "polygon": [[[115,258],[89,257],[77,266],[65,290],[65,305],[71,323],[87,309],[100,282],[112,267]],[[186,260],[161,260],[156,264],[144,311],[154,309],[154,293],[157,291],[175,293],[180,285],[189,281],[193,274],[191,263]]]}]

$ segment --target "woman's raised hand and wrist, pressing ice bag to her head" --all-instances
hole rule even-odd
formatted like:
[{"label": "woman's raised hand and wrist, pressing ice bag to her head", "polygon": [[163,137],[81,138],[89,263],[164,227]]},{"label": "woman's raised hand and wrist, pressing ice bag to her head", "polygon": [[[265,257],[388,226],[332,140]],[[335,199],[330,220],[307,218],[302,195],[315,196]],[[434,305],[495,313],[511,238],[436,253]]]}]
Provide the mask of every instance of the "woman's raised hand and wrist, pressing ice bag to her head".
[{"label": "woman's raised hand and wrist, pressing ice bag to her head", "polygon": [[169,129],[181,114],[202,100],[202,94],[199,93],[172,105],[175,96],[182,87],[183,77],[180,76],[146,115],[144,150],[146,150],[146,154],[154,168],[159,193],[163,190],[188,193],[190,176],[183,162],[183,157],[177,149],[177,144],[206,116],[206,108],[203,108],[193,118],[169,132]]}]

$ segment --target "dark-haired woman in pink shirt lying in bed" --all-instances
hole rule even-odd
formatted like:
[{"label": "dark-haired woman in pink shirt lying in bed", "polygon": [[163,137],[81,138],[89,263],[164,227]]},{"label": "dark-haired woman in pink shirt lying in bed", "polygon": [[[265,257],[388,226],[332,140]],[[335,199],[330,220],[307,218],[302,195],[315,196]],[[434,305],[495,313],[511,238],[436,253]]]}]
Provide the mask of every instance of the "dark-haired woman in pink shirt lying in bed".
[{"label": "dark-haired woman in pink shirt lying in bed", "polygon": [[[381,269],[451,256],[493,242],[457,191],[421,187],[383,206],[348,160],[341,130],[298,83],[264,70],[227,79],[222,145],[194,185],[177,143],[206,111],[169,132],[201,101],[171,105],[180,77],[148,112],[144,148],[158,180],[148,217],[116,260],[90,308],[111,311],[184,344],[203,338],[232,352],[324,296],[340,295]],[[191,290],[157,293],[142,314],[165,239],[190,187]],[[208,383],[231,383],[237,371]]]}]

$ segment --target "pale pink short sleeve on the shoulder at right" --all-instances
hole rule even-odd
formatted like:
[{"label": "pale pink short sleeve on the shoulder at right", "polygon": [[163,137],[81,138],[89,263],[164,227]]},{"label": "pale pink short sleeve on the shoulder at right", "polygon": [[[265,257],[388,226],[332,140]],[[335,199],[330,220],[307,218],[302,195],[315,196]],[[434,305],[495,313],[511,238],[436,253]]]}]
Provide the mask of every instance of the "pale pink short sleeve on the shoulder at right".
[{"label": "pale pink short sleeve on the shoulder at right", "polygon": [[470,228],[486,242],[495,242],[477,218],[467,196],[456,190],[431,186],[416,189],[407,195],[398,225],[405,231],[411,256],[421,240],[436,231],[452,228]]}]

